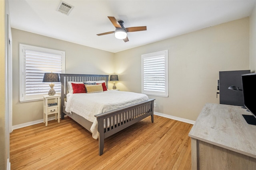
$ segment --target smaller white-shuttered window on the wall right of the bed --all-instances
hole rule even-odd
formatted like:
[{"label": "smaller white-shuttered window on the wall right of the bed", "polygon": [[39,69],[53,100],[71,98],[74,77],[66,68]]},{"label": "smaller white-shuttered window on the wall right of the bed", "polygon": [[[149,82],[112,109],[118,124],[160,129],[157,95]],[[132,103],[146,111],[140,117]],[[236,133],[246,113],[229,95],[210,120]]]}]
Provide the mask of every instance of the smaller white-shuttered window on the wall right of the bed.
[{"label": "smaller white-shuttered window on the wall right of the bed", "polygon": [[142,58],[142,93],[168,97],[168,50],[144,54]]}]

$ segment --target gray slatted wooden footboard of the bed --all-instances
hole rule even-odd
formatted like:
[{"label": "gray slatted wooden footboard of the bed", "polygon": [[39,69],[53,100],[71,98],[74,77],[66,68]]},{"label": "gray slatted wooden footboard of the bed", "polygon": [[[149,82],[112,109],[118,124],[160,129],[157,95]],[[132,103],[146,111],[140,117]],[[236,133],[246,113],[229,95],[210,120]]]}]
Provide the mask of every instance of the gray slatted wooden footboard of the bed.
[{"label": "gray slatted wooden footboard of the bed", "polygon": [[111,110],[95,115],[98,121],[99,155],[103,154],[104,139],[133,125],[134,123],[151,116],[154,122],[154,100],[150,99],[120,109]]}]

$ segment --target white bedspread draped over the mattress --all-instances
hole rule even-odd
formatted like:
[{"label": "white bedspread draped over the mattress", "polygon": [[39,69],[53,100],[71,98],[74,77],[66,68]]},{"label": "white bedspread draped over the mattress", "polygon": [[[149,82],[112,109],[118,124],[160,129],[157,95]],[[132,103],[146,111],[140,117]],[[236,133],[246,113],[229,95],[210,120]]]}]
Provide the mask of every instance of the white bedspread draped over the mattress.
[{"label": "white bedspread draped over the mattress", "polygon": [[98,121],[94,115],[146,100],[148,100],[146,94],[118,90],[107,90],[88,94],[78,93],[70,95],[65,110],[69,113],[73,111],[88,121],[93,122],[90,129],[92,131],[92,137],[98,139]]}]

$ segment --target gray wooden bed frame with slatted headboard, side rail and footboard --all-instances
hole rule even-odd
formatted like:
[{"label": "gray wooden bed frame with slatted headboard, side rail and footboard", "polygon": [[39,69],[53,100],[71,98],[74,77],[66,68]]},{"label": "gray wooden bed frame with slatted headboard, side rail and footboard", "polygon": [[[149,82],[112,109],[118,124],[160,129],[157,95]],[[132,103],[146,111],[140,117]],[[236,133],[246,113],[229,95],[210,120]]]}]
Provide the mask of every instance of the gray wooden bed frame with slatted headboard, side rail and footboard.
[{"label": "gray wooden bed frame with slatted headboard, side rail and footboard", "polygon": [[[64,115],[68,115],[74,121],[82,125],[85,129],[94,134],[92,127],[96,126],[98,132],[98,142],[99,142],[99,155],[103,154],[104,150],[104,139],[118,133],[119,131],[137,123],[138,121],[151,116],[152,123],[154,122],[154,99],[147,99],[142,102],[135,102],[124,107],[119,107],[104,113],[97,113],[94,115],[95,121],[86,119],[80,113],[75,113],[73,111],[66,111],[67,97],[69,95],[68,82],[100,82],[104,81],[106,88],[108,88],[108,75],[94,75],[94,74],[60,74],[61,82],[61,119],[64,119]],[[111,92],[110,92],[111,91]],[[116,90],[107,90],[104,93],[115,95]],[[120,92],[119,92],[120,93]],[[98,95],[98,94],[97,94]],[[73,95],[75,96],[75,95]],[[79,96],[79,95],[76,95]],[[96,95],[95,95],[96,96]],[[68,97],[69,98],[69,97]],[[71,97],[70,97],[71,98]],[[75,97],[73,97],[75,98]],[[68,99],[68,101],[72,101]],[[76,102],[74,102],[76,103]],[[81,106],[81,108],[83,108]],[[68,109],[67,109],[68,110]],[[96,139],[96,137],[94,137]]]}]

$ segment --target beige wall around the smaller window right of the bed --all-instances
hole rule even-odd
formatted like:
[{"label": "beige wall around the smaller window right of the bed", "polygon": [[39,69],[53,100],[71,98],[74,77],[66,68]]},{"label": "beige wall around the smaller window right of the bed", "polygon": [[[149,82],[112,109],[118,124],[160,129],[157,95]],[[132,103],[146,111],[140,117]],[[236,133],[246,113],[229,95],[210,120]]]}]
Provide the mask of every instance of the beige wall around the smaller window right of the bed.
[{"label": "beige wall around the smaller window right of the bed", "polygon": [[249,69],[249,18],[223,23],[115,54],[117,88],[141,92],[141,55],[168,49],[169,97],[156,112],[195,121],[216,98],[219,71]]}]

